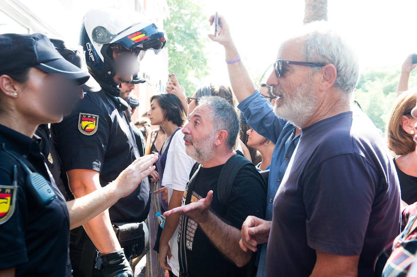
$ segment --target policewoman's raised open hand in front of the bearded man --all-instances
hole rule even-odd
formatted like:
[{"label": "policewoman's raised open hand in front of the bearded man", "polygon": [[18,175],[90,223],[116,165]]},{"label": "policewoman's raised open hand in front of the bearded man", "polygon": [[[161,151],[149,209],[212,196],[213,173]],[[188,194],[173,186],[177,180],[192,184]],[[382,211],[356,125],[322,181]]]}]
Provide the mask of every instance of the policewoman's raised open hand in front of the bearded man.
[{"label": "policewoman's raised open hand in front of the bearded man", "polygon": [[135,190],[144,178],[155,170],[153,164],[158,160],[158,154],[146,155],[136,159],[123,170],[109,185],[114,186],[114,193],[120,198],[126,197]]}]

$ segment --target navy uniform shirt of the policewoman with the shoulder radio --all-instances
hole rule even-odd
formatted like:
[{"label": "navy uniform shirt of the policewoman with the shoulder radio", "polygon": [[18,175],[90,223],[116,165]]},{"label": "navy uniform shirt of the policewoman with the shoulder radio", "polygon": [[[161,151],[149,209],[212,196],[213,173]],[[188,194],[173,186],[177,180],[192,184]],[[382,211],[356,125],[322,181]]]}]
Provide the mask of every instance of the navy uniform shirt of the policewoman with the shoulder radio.
[{"label": "navy uniform shirt of the policewoman with the shoulder radio", "polygon": [[[16,157],[3,150],[3,143]],[[0,270],[16,267],[16,276],[71,276],[68,209],[39,143],[39,137],[0,125]],[[56,198],[45,207],[35,204],[28,192],[27,172],[18,159],[50,182]]]}]

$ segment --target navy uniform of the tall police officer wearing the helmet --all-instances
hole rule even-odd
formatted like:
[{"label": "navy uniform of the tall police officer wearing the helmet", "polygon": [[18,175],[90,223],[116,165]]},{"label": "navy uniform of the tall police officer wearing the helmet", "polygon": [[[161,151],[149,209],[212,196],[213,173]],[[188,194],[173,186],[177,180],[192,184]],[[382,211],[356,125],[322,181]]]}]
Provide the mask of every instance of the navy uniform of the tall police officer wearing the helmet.
[{"label": "navy uniform of the tall police officer wearing the helmet", "polygon": [[[100,173],[100,185],[106,186],[139,158],[138,146],[124,110],[126,102],[118,97],[117,87],[100,83],[100,92],[87,92],[73,112],[53,124],[56,148],[63,171],[91,169]],[[151,191],[148,178],[130,195],[109,208],[112,223],[142,222],[149,213]],[[125,246],[130,260],[136,245]],[[97,250],[82,227],[71,231],[70,259],[74,274],[95,272]],[[81,274],[81,273],[80,273]],[[99,273],[93,273],[98,274]]]}]

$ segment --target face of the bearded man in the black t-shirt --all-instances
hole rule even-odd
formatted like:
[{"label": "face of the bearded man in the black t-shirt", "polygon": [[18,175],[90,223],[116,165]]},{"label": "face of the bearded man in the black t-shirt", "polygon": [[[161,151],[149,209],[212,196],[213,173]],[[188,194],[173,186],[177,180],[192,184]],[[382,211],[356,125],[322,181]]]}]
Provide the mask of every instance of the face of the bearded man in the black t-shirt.
[{"label": "face of the bearded man in the black t-shirt", "polygon": [[186,153],[199,163],[211,161],[216,155],[214,145],[216,132],[213,131],[209,114],[208,106],[196,107],[189,116],[190,121],[182,129]]}]

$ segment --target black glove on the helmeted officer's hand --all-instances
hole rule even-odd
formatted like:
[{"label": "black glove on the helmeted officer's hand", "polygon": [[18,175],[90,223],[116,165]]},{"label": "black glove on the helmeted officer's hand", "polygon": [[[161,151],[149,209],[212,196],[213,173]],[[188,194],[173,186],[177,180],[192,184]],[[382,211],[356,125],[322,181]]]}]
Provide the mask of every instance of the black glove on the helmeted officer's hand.
[{"label": "black glove on the helmeted officer's hand", "polygon": [[133,277],[133,271],[123,248],[117,252],[101,255],[101,268],[105,277]]}]

